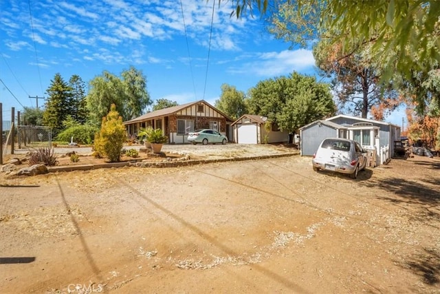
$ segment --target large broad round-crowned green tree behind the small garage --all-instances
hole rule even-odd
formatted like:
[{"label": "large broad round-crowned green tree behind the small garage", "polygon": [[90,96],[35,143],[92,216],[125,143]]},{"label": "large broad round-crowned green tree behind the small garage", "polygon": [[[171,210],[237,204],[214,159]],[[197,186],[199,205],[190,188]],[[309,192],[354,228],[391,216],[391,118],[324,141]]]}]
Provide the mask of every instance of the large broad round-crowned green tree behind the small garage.
[{"label": "large broad round-crowned green tree behind the small garage", "polygon": [[259,82],[250,90],[249,105],[250,112],[266,116],[291,134],[336,112],[329,85],[297,72]]}]

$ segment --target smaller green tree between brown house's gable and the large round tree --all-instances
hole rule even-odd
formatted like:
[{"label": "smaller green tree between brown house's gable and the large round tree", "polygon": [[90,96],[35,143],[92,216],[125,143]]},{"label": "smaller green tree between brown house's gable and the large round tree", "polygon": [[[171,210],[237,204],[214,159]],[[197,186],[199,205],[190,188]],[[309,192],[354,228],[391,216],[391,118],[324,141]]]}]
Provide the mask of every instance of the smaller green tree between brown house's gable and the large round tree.
[{"label": "smaller green tree between brown house's gable and the large round tree", "polygon": [[245,93],[228,84],[221,85],[220,98],[215,101],[214,106],[233,119],[248,113]]}]

